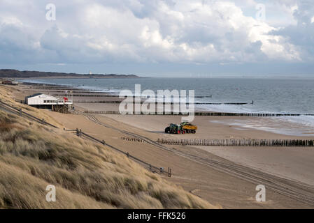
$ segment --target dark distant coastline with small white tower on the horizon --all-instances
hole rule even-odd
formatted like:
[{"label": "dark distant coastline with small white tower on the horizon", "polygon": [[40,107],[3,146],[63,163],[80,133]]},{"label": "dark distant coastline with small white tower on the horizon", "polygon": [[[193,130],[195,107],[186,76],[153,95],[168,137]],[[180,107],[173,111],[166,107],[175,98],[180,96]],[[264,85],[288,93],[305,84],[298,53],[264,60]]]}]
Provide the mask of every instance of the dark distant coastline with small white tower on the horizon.
[{"label": "dark distant coastline with small white tower on the horizon", "polygon": [[16,78],[16,79],[56,79],[56,78],[142,78],[138,75],[117,75],[117,74],[77,74],[66,72],[43,72],[43,71],[20,71],[11,69],[1,69],[0,78]]}]

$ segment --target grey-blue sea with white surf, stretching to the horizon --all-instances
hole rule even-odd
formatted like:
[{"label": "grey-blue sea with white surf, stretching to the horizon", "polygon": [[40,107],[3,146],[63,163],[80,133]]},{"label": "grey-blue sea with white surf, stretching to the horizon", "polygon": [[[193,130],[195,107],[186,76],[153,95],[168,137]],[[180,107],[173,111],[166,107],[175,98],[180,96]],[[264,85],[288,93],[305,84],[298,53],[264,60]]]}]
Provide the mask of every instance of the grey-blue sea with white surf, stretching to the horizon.
[{"label": "grey-blue sea with white surf, stretching to the horizon", "polygon": [[[287,135],[314,136],[314,78],[134,78],[134,79],[25,79],[22,82],[57,84],[117,94],[122,90],[194,90],[195,102],[248,103],[196,105],[197,110],[236,113],[304,114],[216,121],[239,130],[257,129]],[[209,97],[210,96],[210,97]],[[204,98],[201,98],[204,97]],[[254,102],[254,103],[252,103]],[[261,121],[262,120],[262,121]],[[285,123],[283,125],[283,123]]]}]

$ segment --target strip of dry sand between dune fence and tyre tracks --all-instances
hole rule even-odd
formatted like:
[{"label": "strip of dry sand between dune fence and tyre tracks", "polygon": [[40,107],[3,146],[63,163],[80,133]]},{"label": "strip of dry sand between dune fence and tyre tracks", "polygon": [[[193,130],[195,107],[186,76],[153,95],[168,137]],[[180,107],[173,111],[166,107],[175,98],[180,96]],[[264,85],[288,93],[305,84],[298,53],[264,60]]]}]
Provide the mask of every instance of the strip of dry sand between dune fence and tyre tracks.
[{"label": "strip of dry sand between dune fence and tyre tracks", "polygon": [[[64,115],[56,112],[47,113],[67,128],[81,128],[83,132],[87,132],[87,134],[91,134],[97,139],[104,139],[106,143],[120,148],[131,155],[141,157],[145,162],[157,167],[171,167],[173,175],[171,178],[165,177],[166,180],[180,185],[183,189],[197,194],[213,204],[219,204],[222,208],[311,208],[311,206],[305,203],[295,201],[271,190],[267,191],[267,201],[259,203],[255,201],[257,193],[255,187],[257,185],[254,183],[194,162],[187,157],[161,150],[147,143],[121,140],[120,137],[127,137],[127,135],[98,125],[84,116]],[[106,116],[97,116],[97,118],[101,122],[106,123],[106,125],[114,126],[120,130],[128,130],[145,137],[156,137],[154,132],[134,128],[131,125],[115,121],[113,118]],[[145,125],[148,125],[148,123],[145,123]],[[211,160],[223,160],[221,157],[199,148],[193,149],[188,146],[172,147],[187,153],[208,157]]]}]

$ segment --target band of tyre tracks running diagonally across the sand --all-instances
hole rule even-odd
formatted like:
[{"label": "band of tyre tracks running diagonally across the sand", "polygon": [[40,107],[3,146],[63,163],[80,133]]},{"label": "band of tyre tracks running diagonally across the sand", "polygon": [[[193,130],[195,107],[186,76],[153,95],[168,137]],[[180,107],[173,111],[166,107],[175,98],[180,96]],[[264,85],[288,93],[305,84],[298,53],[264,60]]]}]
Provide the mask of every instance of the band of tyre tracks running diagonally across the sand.
[{"label": "band of tyre tracks running diagonally across the sand", "polygon": [[257,169],[252,169],[250,167],[245,167],[241,164],[236,164],[229,160],[211,160],[208,157],[204,157],[201,153],[197,151],[189,153],[188,151],[180,151],[176,148],[169,148],[167,146],[158,144],[156,141],[153,141],[152,139],[145,137],[141,134],[136,134],[127,130],[121,130],[119,128],[115,128],[111,125],[105,124],[99,121],[99,119],[93,115],[83,114],[83,116],[90,119],[90,121],[93,121],[94,123],[102,125],[106,128],[117,130],[124,134],[128,134],[131,137],[138,137],[140,139],[143,139],[143,141],[151,144],[152,146],[155,146],[155,148],[175,153],[176,155],[180,155],[199,164],[204,164],[208,167],[212,167],[217,171],[222,171],[224,173],[231,174],[231,176],[236,176],[238,178],[247,180],[250,183],[255,183],[256,185],[265,185],[265,187],[273,190],[273,192],[278,192],[279,194],[285,195],[297,201],[301,201],[310,206],[314,206],[314,186],[312,185],[300,183],[286,178],[280,178],[278,176],[273,176]]}]

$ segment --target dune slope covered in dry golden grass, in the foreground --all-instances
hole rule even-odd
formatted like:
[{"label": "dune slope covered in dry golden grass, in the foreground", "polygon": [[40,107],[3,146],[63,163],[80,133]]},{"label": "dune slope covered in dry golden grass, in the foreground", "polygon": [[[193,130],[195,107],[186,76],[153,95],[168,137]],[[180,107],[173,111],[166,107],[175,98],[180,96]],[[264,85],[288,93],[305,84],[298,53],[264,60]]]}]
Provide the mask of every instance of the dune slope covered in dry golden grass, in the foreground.
[{"label": "dune slope covered in dry golden grass, in the foreground", "polygon": [[[2,86],[0,99],[19,105]],[[0,110],[0,208],[215,207],[106,146]]]}]

